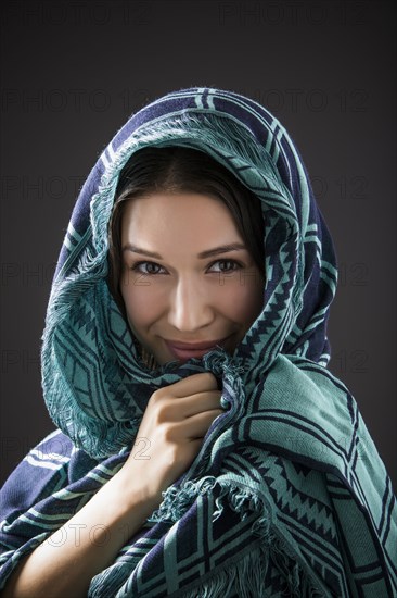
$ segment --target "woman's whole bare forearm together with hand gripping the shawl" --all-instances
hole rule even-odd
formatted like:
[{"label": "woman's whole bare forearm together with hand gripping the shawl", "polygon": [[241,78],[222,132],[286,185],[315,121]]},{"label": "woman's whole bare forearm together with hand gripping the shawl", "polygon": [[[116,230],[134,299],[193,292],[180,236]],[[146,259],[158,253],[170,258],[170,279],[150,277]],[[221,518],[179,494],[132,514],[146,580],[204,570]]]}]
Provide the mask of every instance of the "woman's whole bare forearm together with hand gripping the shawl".
[{"label": "woman's whole bare forearm together with hand gripping the shawl", "polygon": [[114,562],[197,454],[221,410],[212,374],[196,374],[152,395],[138,438],[150,440],[150,459],[133,451],[121,470],[65,525],[26,557],[3,598],[87,596],[94,575]]}]

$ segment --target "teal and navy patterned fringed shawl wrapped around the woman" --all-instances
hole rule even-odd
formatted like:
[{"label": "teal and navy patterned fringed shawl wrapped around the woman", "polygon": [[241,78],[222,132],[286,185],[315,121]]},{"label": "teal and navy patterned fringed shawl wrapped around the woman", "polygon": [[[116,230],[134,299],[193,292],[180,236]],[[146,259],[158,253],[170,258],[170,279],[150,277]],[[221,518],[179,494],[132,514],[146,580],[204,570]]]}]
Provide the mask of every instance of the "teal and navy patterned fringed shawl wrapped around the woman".
[{"label": "teal and navy patterned fringed shawl wrapped around the woman", "polygon": [[[120,170],[146,146],[207,152],[261,202],[264,308],[232,356],[151,371],[107,283]],[[57,429],[2,494],[2,583],[123,465],[154,389],[213,372],[227,411],[89,597],[397,595],[390,479],[358,406],[326,369],[332,239],[282,124],[231,91],[170,92],[132,115],[78,196],[54,275],[42,386]]]}]

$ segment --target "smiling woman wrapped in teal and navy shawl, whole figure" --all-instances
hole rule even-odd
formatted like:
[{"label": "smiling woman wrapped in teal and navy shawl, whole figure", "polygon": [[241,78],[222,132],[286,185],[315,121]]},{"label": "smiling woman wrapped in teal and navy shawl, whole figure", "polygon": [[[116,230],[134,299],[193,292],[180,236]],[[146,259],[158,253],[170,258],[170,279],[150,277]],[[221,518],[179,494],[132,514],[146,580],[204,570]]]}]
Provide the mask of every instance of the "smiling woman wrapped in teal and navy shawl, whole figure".
[{"label": "smiling woman wrapped in teal and navy shawl, whole figure", "polygon": [[256,102],[169,94],[81,189],[49,301],[59,431],[3,489],[7,596],[394,596],[396,507],[332,376],[331,237]]}]

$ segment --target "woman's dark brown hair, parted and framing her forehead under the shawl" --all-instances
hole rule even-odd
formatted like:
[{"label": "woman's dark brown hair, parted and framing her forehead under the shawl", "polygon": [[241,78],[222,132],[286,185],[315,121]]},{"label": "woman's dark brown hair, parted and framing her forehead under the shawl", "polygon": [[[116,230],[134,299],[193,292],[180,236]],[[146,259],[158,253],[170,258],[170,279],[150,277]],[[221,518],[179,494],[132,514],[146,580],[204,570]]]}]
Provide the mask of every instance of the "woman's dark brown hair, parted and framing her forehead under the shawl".
[{"label": "woman's dark brown hair, parted and framing her forehead under the shawl", "polygon": [[223,201],[247,250],[264,274],[260,200],[227,167],[203,151],[180,146],[144,148],[133,153],[121,170],[110,222],[108,286],[123,313],[124,301],[119,291],[120,225],[126,200],[161,191],[198,192]]}]

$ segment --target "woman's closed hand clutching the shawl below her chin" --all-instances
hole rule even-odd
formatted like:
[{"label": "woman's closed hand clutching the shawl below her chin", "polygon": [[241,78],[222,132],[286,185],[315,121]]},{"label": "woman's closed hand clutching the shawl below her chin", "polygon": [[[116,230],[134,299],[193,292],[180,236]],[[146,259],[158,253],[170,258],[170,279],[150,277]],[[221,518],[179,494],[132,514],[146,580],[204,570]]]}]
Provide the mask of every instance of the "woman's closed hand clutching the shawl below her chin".
[{"label": "woman's closed hand clutching the shawl below her chin", "polygon": [[194,374],[153,393],[131,453],[116,474],[131,495],[158,504],[162,491],[193,462],[213,421],[222,413],[213,374]]}]

